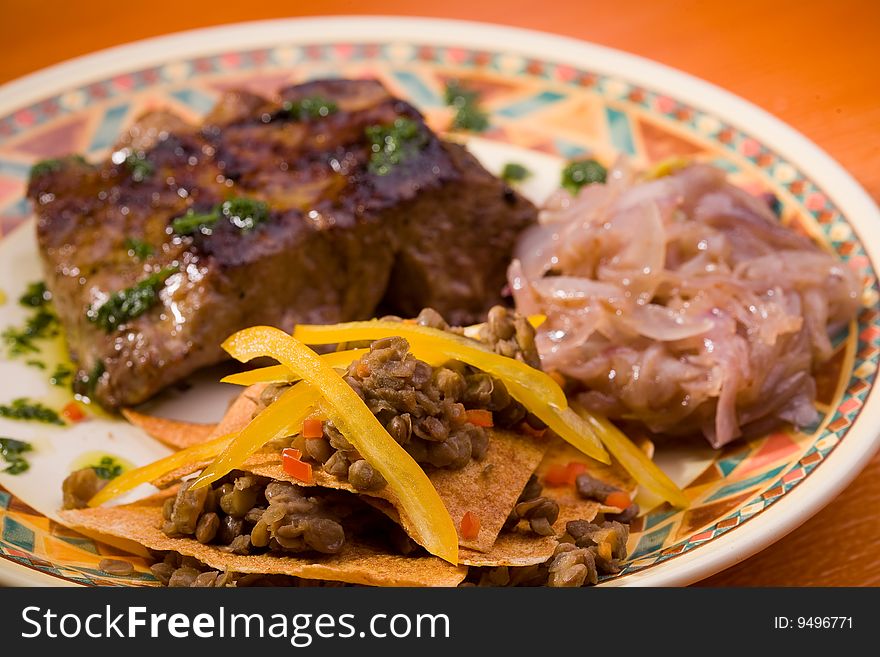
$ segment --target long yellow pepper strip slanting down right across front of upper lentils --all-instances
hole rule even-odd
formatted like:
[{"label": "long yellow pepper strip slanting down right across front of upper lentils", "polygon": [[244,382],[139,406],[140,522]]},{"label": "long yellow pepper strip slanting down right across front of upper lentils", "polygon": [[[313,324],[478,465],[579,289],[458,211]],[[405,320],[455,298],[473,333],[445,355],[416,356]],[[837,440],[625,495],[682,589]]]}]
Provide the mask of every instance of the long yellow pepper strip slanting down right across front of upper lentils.
[{"label": "long yellow pepper strip slanting down right across front of upper lentils", "polygon": [[[239,331],[223,343],[223,348],[240,361],[259,356],[275,358],[299,375],[303,383],[320,390],[322,410],[367,463],[385,477],[422,545],[431,554],[458,563],[458,533],[431,480],[336,370],[299,340],[267,326]],[[269,406],[251,424],[273,413],[277,404]]]}]

